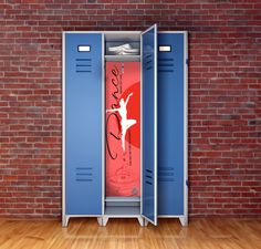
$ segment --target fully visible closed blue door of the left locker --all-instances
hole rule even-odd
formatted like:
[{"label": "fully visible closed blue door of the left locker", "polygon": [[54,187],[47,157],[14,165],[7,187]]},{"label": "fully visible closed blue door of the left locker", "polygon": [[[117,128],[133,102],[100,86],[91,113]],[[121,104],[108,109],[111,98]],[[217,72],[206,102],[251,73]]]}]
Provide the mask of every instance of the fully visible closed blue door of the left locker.
[{"label": "fully visible closed blue door of the left locker", "polygon": [[102,214],[102,34],[65,33],[65,215]]}]

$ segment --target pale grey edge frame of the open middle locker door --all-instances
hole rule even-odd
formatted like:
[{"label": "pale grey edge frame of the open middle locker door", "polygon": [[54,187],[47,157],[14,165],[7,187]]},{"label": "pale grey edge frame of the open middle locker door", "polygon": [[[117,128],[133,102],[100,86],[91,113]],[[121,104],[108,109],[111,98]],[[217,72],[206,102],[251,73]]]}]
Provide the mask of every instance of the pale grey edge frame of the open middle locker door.
[{"label": "pale grey edge frame of the open middle locker door", "polygon": [[[155,72],[154,72],[154,77],[155,77],[155,91],[154,91],[154,97],[155,97],[155,102],[154,102],[154,120],[155,120],[155,128],[154,128],[154,139],[155,139],[155,144],[154,144],[154,151],[155,151],[155,155],[154,155],[154,163],[156,164],[155,166],[155,172],[154,172],[154,178],[155,178],[155,186],[154,186],[154,193],[155,193],[155,217],[156,217],[156,221],[154,222],[153,220],[148,219],[147,217],[145,217],[143,215],[143,34],[147,31],[150,31],[152,29],[155,29],[156,35],[154,39],[154,43],[155,43],[155,58],[154,58],[154,63],[155,63]],[[157,185],[157,48],[158,48],[158,42],[157,42],[157,33],[158,33],[158,29],[157,29],[157,24],[153,24],[152,27],[149,27],[148,29],[146,29],[145,31],[143,31],[140,33],[140,216],[147,221],[147,222],[152,222],[153,225],[157,226],[157,193],[158,193],[158,185]]]}]

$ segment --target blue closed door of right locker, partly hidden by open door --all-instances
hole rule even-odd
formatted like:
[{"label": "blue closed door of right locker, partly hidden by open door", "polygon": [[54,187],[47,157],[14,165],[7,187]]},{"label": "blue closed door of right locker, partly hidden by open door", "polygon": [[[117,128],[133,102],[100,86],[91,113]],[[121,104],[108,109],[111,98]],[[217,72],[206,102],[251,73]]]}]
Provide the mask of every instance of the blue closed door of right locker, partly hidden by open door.
[{"label": "blue closed door of right locker, partly hidden by open door", "polygon": [[184,215],[184,39],[158,34],[158,215]]}]

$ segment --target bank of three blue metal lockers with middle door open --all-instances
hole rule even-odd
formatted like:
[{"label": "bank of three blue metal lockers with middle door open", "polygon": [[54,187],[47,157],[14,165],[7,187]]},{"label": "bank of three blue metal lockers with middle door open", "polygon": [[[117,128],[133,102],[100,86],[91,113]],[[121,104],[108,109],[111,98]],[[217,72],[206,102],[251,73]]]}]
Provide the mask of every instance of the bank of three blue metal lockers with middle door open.
[{"label": "bank of three blue metal lockers with middle door open", "polygon": [[[142,226],[148,221],[157,225],[158,217],[176,217],[187,225],[187,32],[158,32],[156,24],[145,32],[63,33],[63,226],[67,226],[72,217],[97,217],[102,226],[108,218],[117,217],[138,218]],[[124,82],[127,81],[124,70],[125,75],[132,75],[132,71],[128,74],[126,71],[132,65],[129,62],[138,63],[133,65],[140,71],[136,72],[140,79],[136,84],[138,91],[135,90],[139,95],[126,94],[126,91],[124,95],[121,82],[121,87],[112,94],[114,97],[122,94],[115,97],[117,105],[107,110],[109,72],[106,69],[114,62],[115,66],[122,66],[118,72]],[[119,107],[124,104],[125,113]],[[127,113],[127,105],[135,104],[136,113],[132,110]],[[106,195],[111,183],[106,179],[108,112],[114,112],[117,118],[114,126],[121,126],[118,137],[114,135],[118,141],[117,151],[122,145],[127,164],[139,162],[135,166],[140,168],[139,179],[135,181],[140,186],[129,191],[130,176],[125,174],[122,179],[126,168],[117,163],[118,172],[122,170],[119,179],[128,187],[123,187],[125,191],[122,193],[126,194],[122,196],[117,191],[121,180],[116,180],[117,185],[112,184],[116,186],[112,193],[119,194]],[[136,128],[132,139],[135,134],[138,136],[140,153],[135,154],[136,160],[129,159],[129,155],[133,156],[128,152],[130,133],[125,131],[128,137],[123,137],[124,124],[134,115],[138,121],[132,120],[127,127],[129,131]],[[123,146],[125,142],[126,147]],[[125,157],[123,162],[126,163]]]}]

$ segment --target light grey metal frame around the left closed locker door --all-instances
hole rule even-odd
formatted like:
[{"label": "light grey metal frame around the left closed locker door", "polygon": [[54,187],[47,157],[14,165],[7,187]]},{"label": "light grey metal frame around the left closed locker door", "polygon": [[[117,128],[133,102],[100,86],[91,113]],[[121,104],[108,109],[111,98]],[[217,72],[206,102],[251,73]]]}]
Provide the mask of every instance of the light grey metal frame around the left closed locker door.
[{"label": "light grey metal frame around the left closed locker door", "polygon": [[[102,215],[66,215],[66,160],[65,160],[65,145],[66,145],[66,133],[65,133],[65,112],[66,112],[66,79],[65,79],[65,63],[66,63],[66,51],[65,51],[65,37],[67,33],[100,33],[102,34]],[[71,217],[98,217],[98,219],[104,215],[104,179],[105,179],[105,76],[104,76],[104,32],[102,31],[63,31],[62,32],[62,226],[67,227],[69,219]]]}]

